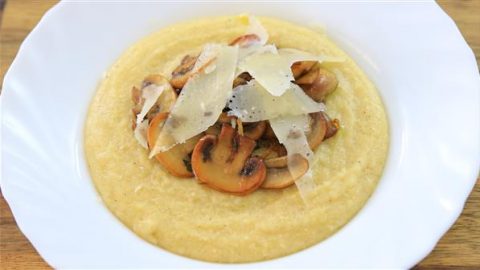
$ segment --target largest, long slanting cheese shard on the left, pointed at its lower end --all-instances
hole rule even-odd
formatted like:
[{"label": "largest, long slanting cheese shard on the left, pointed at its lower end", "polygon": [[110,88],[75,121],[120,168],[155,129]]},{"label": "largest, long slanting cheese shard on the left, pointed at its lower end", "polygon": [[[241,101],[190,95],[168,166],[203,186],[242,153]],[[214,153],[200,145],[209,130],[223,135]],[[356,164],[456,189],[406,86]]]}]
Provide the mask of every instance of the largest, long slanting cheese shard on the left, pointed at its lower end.
[{"label": "largest, long slanting cheese shard on the left, pointed at its lower end", "polygon": [[216,51],[212,63],[216,68],[209,73],[203,71],[195,74],[187,81],[150,157],[207,130],[222,113],[232,93],[238,47],[215,44],[209,47],[209,53],[211,50]]}]

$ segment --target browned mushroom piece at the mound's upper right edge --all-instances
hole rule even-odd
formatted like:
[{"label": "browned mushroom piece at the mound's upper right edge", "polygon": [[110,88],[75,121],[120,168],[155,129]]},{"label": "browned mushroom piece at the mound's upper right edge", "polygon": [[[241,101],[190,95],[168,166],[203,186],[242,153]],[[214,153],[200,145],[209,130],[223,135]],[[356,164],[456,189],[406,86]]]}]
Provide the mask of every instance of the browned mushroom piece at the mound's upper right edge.
[{"label": "browned mushroom piece at the mound's upper right edge", "polygon": [[337,89],[338,80],[333,72],[314,67],[295,81],[309,97],[319,102]]}]

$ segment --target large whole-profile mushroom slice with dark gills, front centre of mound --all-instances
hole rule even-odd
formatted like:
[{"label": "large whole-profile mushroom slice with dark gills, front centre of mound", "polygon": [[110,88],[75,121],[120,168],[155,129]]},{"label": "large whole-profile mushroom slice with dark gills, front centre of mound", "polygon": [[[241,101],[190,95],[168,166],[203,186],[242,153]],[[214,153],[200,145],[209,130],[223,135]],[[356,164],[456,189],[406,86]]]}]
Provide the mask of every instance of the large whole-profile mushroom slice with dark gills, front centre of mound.
[{"label": "large whole-profile mushroom slice with dark gills, front centre of mound", "polygon": [[263,160],[250,157],[255,141],[240,136],[228,124],[220,135],[206,135],[195,146],[192,168],[200,182],[224,192],[246,195],[264,181]]}]

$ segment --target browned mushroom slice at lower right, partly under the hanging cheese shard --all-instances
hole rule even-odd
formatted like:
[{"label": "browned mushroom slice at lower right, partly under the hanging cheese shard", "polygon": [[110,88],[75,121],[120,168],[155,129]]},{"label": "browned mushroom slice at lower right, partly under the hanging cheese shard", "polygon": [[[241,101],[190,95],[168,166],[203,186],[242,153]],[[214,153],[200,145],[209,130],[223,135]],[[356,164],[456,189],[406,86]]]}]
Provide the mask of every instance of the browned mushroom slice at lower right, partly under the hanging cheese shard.
[{"label": "browned mushroom slice at lower right, partly under the hanging cheese shard", "polygon": [[262,188],[270,189],[288,187],[308,171],[308,161],[299,154],[292,155],[290,162],[287,156],[265,160],[265,166],[267,177]]}]

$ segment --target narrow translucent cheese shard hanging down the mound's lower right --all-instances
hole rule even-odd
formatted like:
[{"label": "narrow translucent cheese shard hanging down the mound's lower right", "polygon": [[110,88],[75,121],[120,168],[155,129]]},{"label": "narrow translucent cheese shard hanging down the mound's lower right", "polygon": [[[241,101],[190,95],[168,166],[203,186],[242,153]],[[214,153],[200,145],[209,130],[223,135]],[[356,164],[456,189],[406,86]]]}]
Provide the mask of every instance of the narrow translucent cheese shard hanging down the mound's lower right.
[{"label": "narrow translucent cheese shard hanging down the mound's lower right", "polygon": [[312,178],[311,164],[313,160],[313,151],[308,144],[307,136],[310,125],[308,115],[286,116],[270,120],[270,126],[278,138],[278,141],[285,146],[288,155],[288,169],[292,174],[294,159],[296,154],[308,160],[309,169],[305,175],[295,181],[300,195],[304,201],[315,189],[315,182]]}]

